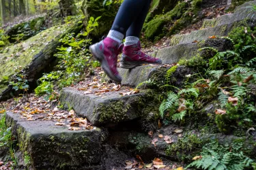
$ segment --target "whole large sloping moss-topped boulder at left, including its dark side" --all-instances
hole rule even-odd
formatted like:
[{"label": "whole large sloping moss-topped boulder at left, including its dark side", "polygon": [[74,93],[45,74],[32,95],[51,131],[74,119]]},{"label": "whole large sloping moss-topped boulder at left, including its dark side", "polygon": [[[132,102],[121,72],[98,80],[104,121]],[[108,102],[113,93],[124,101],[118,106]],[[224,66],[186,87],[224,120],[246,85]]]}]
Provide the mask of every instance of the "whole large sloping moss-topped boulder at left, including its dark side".
[{"label": "whole large sloping moss-topped boulder at left, including its dark side", "polygon": [[59,46],[59,39],[80,29],[78,25],[70,24],[51,27],[20,44],[5,48],[0,54],[0,100],[10,97],[12,87],[8,87],[8,82],[12,81],[14,74],[23,71],[29,82],[35,81],[55,59],[53,54]]}]

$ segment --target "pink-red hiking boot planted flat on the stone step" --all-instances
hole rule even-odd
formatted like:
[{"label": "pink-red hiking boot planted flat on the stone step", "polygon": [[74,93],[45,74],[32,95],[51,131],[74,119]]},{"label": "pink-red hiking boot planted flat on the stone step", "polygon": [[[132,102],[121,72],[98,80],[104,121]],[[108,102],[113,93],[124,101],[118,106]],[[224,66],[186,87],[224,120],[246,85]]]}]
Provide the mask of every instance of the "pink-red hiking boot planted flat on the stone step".
[{"label": "pink-red hiking boot planted flat on the stone step", "polygon": [[132,69],[143,64],[161,65],[162,61],[159,58],[153,58],[141,52],[141,43],[124,46],[120,67],[124,69]]}]

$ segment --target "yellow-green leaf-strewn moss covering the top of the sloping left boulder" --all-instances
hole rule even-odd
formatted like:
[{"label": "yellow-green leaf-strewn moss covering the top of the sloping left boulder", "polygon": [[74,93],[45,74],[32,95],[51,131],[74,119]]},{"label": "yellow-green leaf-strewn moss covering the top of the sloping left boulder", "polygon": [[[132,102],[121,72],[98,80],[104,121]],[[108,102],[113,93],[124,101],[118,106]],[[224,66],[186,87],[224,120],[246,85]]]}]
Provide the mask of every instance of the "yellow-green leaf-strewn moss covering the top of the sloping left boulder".
[{"label": "yellow-green leaf-strewn moss covering the top of the sloping left boulder", "polygon": [[36,54],[39,54],[42,50],[46,50],[45,47],[51,41],[57,41],[59,36],[63,35],[68,27],[70,27],[68,24],[52,27],[27,39],[23,43],[7,47],[6,49],[8,50],[6,51],[8,52],[0,55],[0,92],[5,90],[7,84],[3,86],[3,81],[6,78],[11,80],[12,75],[29,67],[31,61],[35,59]]}]

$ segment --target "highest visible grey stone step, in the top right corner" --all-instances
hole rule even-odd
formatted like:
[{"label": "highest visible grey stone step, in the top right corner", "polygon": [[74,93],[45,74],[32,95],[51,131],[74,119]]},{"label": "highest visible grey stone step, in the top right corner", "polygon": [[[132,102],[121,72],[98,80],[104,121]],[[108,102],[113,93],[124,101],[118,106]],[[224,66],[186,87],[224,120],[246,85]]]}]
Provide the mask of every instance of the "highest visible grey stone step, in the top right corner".
[{"label": "highest visible grey stone step, in the top right corner", "polygon": [[255,5],[256,1],[250,1],[236,8],[233,14],[225,14],[213,19],[206,19],[203,22],[201,29],[207,29],[216,27],[223,24],[230,24],[232,22],[238,22],[248,18],[249,20],[256,20],[256,12],[253,12],[250,8],[251,5]]}]

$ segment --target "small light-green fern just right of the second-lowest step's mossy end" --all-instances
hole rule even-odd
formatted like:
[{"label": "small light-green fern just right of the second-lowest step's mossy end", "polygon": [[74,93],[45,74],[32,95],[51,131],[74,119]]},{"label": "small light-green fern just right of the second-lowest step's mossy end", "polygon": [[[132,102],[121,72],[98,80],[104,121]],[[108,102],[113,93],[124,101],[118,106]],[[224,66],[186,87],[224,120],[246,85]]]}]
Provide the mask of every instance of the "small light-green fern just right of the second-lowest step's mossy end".
[{"label": "small light-green fern just right of the second-lowest step's mossy end", "polygon": [[163,117],[165,114],[165,111],[168,109],[173,109],[177,106],[178,104],[178,96],[174,92],[169,92],[167,99],[162,101],[159,111],[160,111],[160,116]]}]

